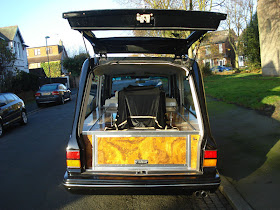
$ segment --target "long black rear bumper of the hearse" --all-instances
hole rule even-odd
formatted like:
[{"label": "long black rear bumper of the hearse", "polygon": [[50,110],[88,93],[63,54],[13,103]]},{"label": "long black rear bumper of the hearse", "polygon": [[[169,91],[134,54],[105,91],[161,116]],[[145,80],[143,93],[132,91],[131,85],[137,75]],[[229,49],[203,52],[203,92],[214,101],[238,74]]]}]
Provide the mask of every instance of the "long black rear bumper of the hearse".
[{"label": "long black rear bumper of the hearse", "polygon": [[214,177],[200,176],[69,176],[64,175],[67,189],[86,188],[184,188],[186,190],[215,191],[220,185],[218,173]]}]

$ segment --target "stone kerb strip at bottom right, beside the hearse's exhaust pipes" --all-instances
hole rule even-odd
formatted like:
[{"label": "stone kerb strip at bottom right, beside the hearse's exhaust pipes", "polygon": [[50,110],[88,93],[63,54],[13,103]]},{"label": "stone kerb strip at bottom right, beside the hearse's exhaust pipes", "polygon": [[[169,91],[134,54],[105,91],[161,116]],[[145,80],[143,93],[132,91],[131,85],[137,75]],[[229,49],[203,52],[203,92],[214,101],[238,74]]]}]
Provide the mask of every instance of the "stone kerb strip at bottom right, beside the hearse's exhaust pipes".
[{"label": "stone kerb strip at bottom right, beside the hearse's exhaust pipes", "polygon": [[228,181],[228,179],[222,175],[220,175],[220,177],[221,177],[221,185],[219,187],[219,190],[230,202],[231,206],[236,210],[240,210],[240,209],[252,210],[253,208],[244,200],[244,198],[230,183],[230,181]]}]

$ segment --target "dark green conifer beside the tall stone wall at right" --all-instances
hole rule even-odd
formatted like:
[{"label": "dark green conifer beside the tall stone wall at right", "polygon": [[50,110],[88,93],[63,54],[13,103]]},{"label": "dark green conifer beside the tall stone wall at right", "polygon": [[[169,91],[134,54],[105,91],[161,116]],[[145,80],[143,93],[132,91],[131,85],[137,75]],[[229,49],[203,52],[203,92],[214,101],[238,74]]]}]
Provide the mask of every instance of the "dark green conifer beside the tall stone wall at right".
[{"label": "dark green conifer beside the tall stone wall at right", "polygon": [[257,13],[253,15],[251,22],[245,29],[242,40],[244,42],[244,55],[248,58],[250,64],[260,66],[261,54]]}]

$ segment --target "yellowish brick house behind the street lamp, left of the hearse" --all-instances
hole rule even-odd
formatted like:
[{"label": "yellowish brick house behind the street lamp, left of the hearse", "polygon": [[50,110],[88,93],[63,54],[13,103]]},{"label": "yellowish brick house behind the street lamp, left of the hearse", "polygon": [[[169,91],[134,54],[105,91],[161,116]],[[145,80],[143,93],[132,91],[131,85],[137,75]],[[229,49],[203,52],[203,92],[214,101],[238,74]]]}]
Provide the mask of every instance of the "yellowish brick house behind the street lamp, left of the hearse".
[{"label": "yellowish brick house behind the street lamp, left of the hearse", "polygon": [[[32,74],[38,76],[46,76],[46,74],[49,74],[48,71],[44,72],[42,63],[50,64],[51,77],[58,77],[68,73],[62,65],[63,60],[67,58],[68,55],[61,40],[58,45],[27,48],[27,57],[30,73]],[[59,72],[54,73],[52,64],[58,66]]]}]

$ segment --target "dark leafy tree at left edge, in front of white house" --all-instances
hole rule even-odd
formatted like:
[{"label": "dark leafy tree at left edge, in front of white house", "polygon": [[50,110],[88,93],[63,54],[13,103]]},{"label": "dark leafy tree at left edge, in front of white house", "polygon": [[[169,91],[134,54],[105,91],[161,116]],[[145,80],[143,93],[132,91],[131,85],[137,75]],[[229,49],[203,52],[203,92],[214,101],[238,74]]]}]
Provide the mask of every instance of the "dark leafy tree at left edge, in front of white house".
[{"label": "dark leafy tree at left edge, in front of white house", "polygon": [[8,68],[13,68],[16,56],[8,49],[8,43],[0,39],[0,75],[5,75]]}]

